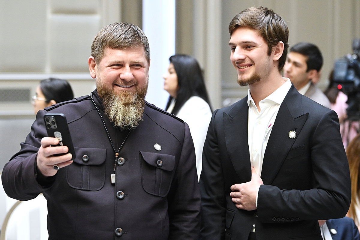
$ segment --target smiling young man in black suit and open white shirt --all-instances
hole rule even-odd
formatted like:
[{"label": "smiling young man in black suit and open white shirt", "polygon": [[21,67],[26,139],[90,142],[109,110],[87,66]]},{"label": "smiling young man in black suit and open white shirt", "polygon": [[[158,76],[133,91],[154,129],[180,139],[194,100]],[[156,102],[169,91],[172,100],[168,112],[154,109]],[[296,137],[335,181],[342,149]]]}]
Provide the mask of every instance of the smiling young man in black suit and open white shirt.
[{"label": "smiling young man in black suit and open white shirt", "polygon": [[281,70],[288,28],[267,8],[229,24],[230,59],[248,96],[213,113],[200,177],[201,239],[321,239],[318,219],[345,216],[350,174],[335,112]]}]

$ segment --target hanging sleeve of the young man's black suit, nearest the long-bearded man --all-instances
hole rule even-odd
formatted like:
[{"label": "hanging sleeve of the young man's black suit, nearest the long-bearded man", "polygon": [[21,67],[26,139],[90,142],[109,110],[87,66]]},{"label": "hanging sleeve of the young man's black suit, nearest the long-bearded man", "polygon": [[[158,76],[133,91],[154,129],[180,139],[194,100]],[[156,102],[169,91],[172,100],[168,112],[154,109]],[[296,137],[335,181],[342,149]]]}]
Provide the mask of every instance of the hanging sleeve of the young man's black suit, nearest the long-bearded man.
[{"label": "hanging sleeve of the young man's black suit, nearest the long-bearded man", "polygon": [[211,118],[203,149],[203,171],[200,177],[202,240],[225,239],[226,202],[219,144],[215,133],[216,113],[218,110]]}]

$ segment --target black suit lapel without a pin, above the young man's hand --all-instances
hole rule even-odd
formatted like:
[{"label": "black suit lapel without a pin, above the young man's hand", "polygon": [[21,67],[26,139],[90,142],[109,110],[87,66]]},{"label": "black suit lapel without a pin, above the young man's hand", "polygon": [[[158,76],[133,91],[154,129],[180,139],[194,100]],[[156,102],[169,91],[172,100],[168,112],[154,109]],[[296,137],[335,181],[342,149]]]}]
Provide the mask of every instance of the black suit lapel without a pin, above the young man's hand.
[{"label": "black suit lapel without a pin, above the young man's hand", "polygon": [[224,112],[223,119],[226,149],[234,169],[242,182],[250,181],[247,97],[235,104],[228,113]]}]

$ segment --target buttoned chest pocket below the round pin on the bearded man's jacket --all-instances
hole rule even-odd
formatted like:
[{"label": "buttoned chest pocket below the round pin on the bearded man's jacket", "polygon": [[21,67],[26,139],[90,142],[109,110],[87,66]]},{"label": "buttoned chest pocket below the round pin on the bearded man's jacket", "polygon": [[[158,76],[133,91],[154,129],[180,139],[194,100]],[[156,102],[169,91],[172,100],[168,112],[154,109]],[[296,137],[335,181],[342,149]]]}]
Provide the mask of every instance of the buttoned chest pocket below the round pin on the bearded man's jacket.
[{"label": "buttoned chest pocket below the round pin on the bearded man's jacket", "polygon": [[143,189],[152,195],[166,196],[174,176],[175,156],[140,151],[140,159]]}]

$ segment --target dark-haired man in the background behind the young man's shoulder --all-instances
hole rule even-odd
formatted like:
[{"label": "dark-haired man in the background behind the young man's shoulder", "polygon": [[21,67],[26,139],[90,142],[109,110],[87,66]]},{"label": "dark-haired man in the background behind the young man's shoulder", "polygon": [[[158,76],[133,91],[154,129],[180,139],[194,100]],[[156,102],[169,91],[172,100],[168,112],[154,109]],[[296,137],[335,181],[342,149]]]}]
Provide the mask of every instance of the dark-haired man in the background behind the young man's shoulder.
[{"label": "dark-haired man in the background behind the young man's shoulder", "polygon": [[284,77],[290,78],[302,95],[331,108],[327,96],[313,82],[318,80],[322,66],[323,55],[319,48],[310,42],[299,42],[290,48],[284,66]]}]

